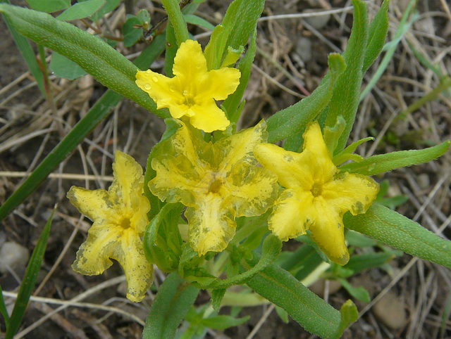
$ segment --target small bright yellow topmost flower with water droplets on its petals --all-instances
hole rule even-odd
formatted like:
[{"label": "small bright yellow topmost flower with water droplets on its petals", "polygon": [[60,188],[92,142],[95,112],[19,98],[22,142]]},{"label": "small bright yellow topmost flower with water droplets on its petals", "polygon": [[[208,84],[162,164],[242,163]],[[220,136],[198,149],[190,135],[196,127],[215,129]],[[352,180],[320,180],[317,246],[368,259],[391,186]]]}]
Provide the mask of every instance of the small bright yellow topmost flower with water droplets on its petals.
[{"label": "small bright yellow topmost flower with water droplets on its petals", "polygon": [[175,77],[165,77],[147,70],[138,71],[136,84],[156,102],[157,108],[169,108],[175,119],[186,115],[190,123],[204,132],[224,130],[230,122],[218,108],[216,100],[224,100],[240,84],[236,68],[207,70],[206,58],[197,41],[180,44],[174,58]]}]

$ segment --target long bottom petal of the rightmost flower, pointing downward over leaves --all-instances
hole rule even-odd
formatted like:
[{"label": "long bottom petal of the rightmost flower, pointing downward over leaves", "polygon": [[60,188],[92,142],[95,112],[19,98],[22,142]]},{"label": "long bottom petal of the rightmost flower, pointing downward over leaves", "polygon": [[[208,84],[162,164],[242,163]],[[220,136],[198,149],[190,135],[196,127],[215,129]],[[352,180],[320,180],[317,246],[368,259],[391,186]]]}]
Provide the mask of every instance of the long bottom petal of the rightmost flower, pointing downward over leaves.
[{"label": "long bottom petal of the rightmost flower, pointing downward over leaves", "polygon": [[350,260],[345,243],[345,228],[339,215],[323,197],[314,200],[317,217],[310,226],[311,238],[326,253],[328,258],[340,265]]}]

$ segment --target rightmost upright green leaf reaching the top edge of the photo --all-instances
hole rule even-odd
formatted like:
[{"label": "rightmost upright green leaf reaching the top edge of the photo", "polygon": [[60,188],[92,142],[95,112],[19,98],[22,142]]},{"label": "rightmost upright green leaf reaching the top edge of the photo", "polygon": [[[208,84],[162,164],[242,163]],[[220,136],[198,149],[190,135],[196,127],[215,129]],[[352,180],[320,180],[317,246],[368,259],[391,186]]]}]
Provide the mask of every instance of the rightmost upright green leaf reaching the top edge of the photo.
[{"label": "rightmost upright green leaf reaching the top edge of the photo", "polygon": [[368,43],[366,44],[366,53],[364,59],[364,66],[362,71],[365,73],[374,60],[381,54],[385,39],[387,39],[388,32],[388,4],[390,0],[384,0],[381,8],[369,25]]}]

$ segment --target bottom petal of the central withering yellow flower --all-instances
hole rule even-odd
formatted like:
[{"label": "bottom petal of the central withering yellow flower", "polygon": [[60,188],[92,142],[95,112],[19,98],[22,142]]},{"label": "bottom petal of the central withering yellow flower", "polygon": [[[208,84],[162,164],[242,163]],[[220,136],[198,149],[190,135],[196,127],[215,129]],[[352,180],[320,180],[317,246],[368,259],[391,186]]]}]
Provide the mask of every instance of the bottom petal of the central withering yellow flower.
[{"label": "bottom petal of the central withering yellow flower", "polygon": [[221,196],[210,193],[201,205],[188,207],[185,212],[188,220],[190,246],[199,253],[221,252],[235,235],[235,211],[223,204]]}]

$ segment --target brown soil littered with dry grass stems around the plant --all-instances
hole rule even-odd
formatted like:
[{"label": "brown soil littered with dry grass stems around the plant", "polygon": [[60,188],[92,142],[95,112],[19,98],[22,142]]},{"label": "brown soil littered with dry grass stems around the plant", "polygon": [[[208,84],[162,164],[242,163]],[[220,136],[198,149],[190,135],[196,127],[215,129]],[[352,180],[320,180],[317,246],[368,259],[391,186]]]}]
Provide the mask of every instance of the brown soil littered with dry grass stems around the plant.
[{"label": "brown soil littered with dry grass stems around the plant", "polygon": [[[230,2],[206,1],[199,6],[197,14],[217,24]],[[358,149],[357,153],[364,157],[424,148],[450,139],[449,91],[412,114],[400,114],[440,83],[439,77],[420,63],[412,48],[443,75],[451,72],[450,5],[445,0],[418,2],[418,18],[404,34],[376,88],[359,107],[352,140],[366,136],[376,138],[373,143],[365,143]],[[407,0],[391,1],[389,40],[393,39],[408,3]],[[370,18],[380,4],[379,0],[369,1]],[[268,0],[262,16],[311,13],[311,9],[327,11],[347,6],[350,1]],[[135,1],[135,10],[142,8],[147,8],[155,20],[163,15],[159,1]],[[122,18],[125,18],[122,7],[116,11],[122,11]],[[274,17],[258,24],[259,49],[245,93],[247,103],[239,128],[252,126],[261,118],[292,105],[318,86],[327,71],[328,53],[341,52],[347,44],[351,13],[345,10],[321,17]],[[116,27],[110,27],[113,30],[110,33],[118,36],[122,23],[123,20],[119,20]],[[107,30],[106,26],[103,29]],[[56,111],[52,111],[27,71],[3,18],[0,19],[0,30],[4,32],[0,39],[0,203],[4,203],[25,173],[35,168],[61,141],[105,88],[90,76],[73,82],[51,76],[56,104]],[[209,39],[205,30],[199,27],[190,27],[190,32],[202,44]],[[144,44],[130,49],[125,49],[122,44],[117,46],[125,55],[144,47]],[[51,55],[50,51],[47,53]],[[153,68],[161,71],[162,60],[157,60]],[[364,85],[380,63],[381,58],[370,68]],[[158,117],[123,100],[54,174],[1,222],[0,247],[5,242],[13,242],[20,245],[18,251],[31,252],[51,210],[58,203],[38,277],[39,292],[35,293],[46,299],[30,303],[20,331],[29,331],[39,319],[44,321],[19,338],[140,338],[152,295],[140,304],[128,302],[121,267],[117,264],[101,276],[81,276],[72,271],[70,265],[85,240],[89,220],[80,218],[80,213],[66,199],[66,192],[72,185],[107,188],[116,148],[135,157],[144,167],[149,150],[159,141],[163,130],[164,123]],[[450,238],[451,229],[447,227],[451,221],[450,165],[448,152],[439,160],[389,172],[376,180],[389,181],[389,196],[408,198],[407,203],[397,207],[397,212],[432,231],[441,227],[441,236]],[[297,244],[290,243],[290,246],[295,248]],[[0,273],[4,291],[17,291],[25,263],[18,264],[13,272]],[[116,277],[119,278],[111,280]],[[164,275],[156,271],[157,286],[163,279]],[[109,283],[93,290],[105,281]],[[371,269],[352,277],[350,283],[364,286],[371,302],[354,300],[361,317],[345,332],[344,338],[451,338],[449,269],[402,255],[383,269]],[[334,281],[320,282],[314,290],[339,308],[350,295],[335,285]],[[58,307],[52,303],[54,300],[70,300],[86,290],[91,294],[80,302],[89,305],[66,307],[51,315]],[[197,304],[207,300],[209,296],[201,293]],[[11,303],[13,298],[6,298],[6,301]],[[99,309],[97,305],[113,309]],[[128,315],[118,314],[117,309]],[[229,311],[224,307],[221,314]],[[209,331],[206,338],[313,338],[292,319],[285,324],[271,306],[247,307],[240,312],[240,316],[245,315],[251,316],[246,324],[226,331]],[[3,319],[0,326],[4,331]]]}]

